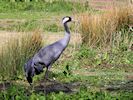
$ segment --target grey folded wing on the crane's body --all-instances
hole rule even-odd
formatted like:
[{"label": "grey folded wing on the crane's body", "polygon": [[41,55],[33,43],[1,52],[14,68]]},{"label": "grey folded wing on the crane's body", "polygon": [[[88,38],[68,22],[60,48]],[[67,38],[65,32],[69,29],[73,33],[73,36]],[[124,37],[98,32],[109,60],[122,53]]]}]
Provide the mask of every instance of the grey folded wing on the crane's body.
[{"label": "grey folded wing on the crane's body", "polygon": [[45,66],[49,66],[60,57],[63,50],[64,47],[59,41],[57,41],[39,50],[39,52],[33,57],[34,62],[40,62],[43,63]]}]

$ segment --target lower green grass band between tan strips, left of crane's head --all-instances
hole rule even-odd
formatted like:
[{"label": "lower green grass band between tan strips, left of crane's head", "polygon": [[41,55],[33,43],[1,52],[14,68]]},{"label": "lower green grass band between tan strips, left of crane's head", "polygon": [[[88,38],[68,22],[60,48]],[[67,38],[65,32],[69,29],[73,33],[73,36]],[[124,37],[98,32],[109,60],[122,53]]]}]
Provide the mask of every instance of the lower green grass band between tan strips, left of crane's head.
[{"label": "lower green grass band between tan strips, left of crane's head", "polygon": [[[48,23],[48,24],[46,24]],[[27,20],[22,21],[20,23],[12,23],[11,25],[7,25],[5,27],[1,27],[1,30],[8,31],[17,31],[17,32],[30,32],[34,31],[35,28],[41,29],[42,31],[50,31],[50,32],[59,32],[62,31],[61,25],[58,25],[55,21],[50,20]]]}]

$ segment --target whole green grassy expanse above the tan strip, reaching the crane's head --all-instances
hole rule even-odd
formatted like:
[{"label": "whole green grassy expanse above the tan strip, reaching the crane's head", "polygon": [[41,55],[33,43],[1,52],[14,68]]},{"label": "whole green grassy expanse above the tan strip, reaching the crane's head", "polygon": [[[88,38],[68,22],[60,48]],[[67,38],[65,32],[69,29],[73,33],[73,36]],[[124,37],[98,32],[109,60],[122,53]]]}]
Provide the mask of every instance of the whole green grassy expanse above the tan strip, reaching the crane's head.
[{"label": "whole green grassy expanse above the tan strip, reaching the crane's head", "polygon": [[66,15],[72,16],[75,13],[84,12],[87,9],[93,11],[89,6],[86,7],[78,2],[63,0],[53,1],[52,3],[13,3],[1,1],[0,19],[4,23],[4,26],[0,25],[0,29],[9,31],[34,31],[34,28],[38,26],[43,31],[62,31],[59,24],[61,23],[62,17]]}]

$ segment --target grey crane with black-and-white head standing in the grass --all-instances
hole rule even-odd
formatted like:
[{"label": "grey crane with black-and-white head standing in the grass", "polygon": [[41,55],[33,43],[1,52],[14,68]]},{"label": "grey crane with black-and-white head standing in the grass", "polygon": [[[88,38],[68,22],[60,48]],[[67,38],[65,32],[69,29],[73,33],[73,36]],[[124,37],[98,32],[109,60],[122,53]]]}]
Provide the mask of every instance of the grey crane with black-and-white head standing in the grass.
[{"label": "grey crane with black-and-white head standing in the grass", "polygon": [[60,57],[70,41],[70,31],[67,23],[71,21],[72,18],[69,16],[62,19],[65,30],[64,38],[41,48],[30,60],[28,60],[27,63],[25,63],[24,70],[29,84],[32,83],[34,75],[38,75],[43,72],[44,67],[46,67],[45,78],[48,79],[48,72],[51,66]]}]

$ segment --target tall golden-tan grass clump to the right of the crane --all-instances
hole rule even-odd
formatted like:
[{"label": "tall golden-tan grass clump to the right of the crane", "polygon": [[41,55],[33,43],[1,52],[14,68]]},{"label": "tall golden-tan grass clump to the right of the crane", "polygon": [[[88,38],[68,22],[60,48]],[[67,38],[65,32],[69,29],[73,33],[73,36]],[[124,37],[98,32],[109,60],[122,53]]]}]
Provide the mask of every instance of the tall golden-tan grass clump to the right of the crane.
[{"label": "tall golden-tan grass clump to the right of the crane", "polygon": [[90,47],[112,48],[120,44],[131,44],[128,31],[131,7],[114,7],[101,14],[81,14],[81,35],[83,44]]}]

